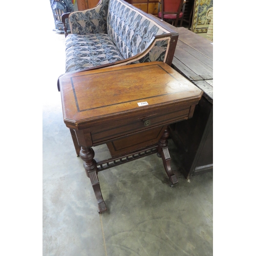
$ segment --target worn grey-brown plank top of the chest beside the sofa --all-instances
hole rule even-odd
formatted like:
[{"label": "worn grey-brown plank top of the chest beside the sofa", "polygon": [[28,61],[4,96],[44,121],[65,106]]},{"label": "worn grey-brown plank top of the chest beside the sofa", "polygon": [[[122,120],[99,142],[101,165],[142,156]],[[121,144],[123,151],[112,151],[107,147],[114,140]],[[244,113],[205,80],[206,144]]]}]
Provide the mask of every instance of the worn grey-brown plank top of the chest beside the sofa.
[{"label": "worn grey-brown plank top of the chest beside the sofa", "polygon": [[206,38],[190,30],[169,25],[179,33],[172,67],[193,81],[205,97],[213,102],[213,45]]}]

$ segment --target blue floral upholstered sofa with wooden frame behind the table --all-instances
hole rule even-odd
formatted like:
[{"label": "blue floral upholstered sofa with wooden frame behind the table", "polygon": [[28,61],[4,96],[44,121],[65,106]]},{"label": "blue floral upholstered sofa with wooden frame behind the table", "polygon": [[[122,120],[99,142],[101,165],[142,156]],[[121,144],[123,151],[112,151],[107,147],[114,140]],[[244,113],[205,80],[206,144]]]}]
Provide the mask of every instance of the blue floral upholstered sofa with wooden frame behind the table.
[{"label": "blue floral upholstered sofa with wooden frame behind the table", "polygon": [[148,61],[172,63],[178,33],[123,0],[100,0],[95,8],[63,14],[62,22],[66,73]]}]

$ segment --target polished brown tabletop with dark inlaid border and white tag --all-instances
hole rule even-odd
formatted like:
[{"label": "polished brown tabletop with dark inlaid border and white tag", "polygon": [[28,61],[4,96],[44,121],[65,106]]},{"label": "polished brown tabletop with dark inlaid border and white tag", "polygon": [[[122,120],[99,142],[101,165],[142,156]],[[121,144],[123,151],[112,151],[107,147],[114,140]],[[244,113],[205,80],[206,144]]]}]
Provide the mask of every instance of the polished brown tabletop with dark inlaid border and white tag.
[{"label": "polished brown tabletop with dark inlaid border and white tag", "polygon": [[163,62],[65,74],[59,84],[64,121],[76,125],[141,108],[195,101],[203,93]]}]

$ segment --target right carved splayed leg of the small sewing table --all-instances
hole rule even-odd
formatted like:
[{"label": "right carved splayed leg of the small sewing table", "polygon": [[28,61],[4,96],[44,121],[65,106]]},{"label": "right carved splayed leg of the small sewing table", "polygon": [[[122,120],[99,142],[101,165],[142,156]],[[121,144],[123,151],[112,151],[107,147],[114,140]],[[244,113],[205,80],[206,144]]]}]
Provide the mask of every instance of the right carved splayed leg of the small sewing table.
[{"label": "right carved splayed leg of the small sewing table", "polygon": [[157,156],[162,157],[165,172],[168,175],[169,180],[171,182],[170,185],[173,186],[175,183],[178,183],[178,180],[177,180],[175,174],[173,173],[172,168],[170,168],[170,160],[172,158],[170,158],[170,154],[169,154],[169,150],[168,150],[168,141],[167,141],[168,137],[169,137],[169,127],[166,128],[162,137],[158,141]]}]

